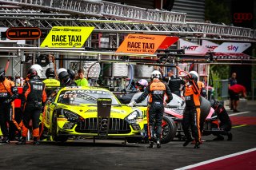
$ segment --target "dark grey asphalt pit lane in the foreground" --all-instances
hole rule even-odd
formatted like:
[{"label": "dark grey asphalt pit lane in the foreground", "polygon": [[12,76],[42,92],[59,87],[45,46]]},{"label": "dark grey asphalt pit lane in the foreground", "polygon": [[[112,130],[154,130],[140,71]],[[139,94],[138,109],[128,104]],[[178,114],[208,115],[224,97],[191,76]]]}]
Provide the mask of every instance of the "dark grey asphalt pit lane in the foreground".
[{"label": "dark grey asphalt pit lane in the foreground", "polygon": [[[162,148],[146,148],[147,144],[123,144],[123,140],[74,140],[64,144],[42,142],[31,144],[0,145],[0,169],[174,169],[190,164],[226,156],[256,147],[255,104],[248,105],[241,118],[232,128],[233,140],[213,141],[214,136],[203,136],[206,140],[199,149],[194,145],[182,147],[182,141],[162,144]],[[228,110],[230,115],[234,114]],[[253,124],[246,125],[250,117]],[[253,119],[251,118],[253,117]],[[231,118],[233,119],[233,118]],[[240,124],[240,125],[239,125]],[[234,164],[235,166],[235,164]],[[226,167],[230,168],[230,167]]]}]

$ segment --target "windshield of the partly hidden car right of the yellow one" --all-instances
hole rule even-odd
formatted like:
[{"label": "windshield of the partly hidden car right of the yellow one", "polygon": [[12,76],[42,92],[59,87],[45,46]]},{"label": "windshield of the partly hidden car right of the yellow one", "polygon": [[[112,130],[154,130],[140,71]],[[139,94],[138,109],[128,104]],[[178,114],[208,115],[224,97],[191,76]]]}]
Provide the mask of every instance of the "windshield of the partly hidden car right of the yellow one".
[{"label": "windshield of the partly hidden car right of the yellow one", "polygon": [[[136,93],[134,94],[133,98],[131,99],[131,101],[134,101],[135,99],[138,99],[138,97],[142,94],[142,92]],[[179,106],[182,107],[184,104],[184,101],[182,100],[181,97],[178,97],[176,94],[172,93],[173,95],[173,100],[170,101],[170,103],[168,103],[167,105],[170,106]],[[146,97],[146,99],[136,105],[147,105],[147,101],[148,101],[148,97]],[[183,106],[184,107],[184,106]]]}]

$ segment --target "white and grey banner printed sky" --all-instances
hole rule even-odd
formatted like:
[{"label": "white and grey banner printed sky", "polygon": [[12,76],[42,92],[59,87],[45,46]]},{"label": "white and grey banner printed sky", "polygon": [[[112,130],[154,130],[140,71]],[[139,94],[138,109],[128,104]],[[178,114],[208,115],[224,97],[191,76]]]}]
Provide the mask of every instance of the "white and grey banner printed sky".
[{"label": "white and grey banner printed sky", "polygon": [[214,49],[217,53],[242,53],[250,47],[250,43],[223,42]]}]

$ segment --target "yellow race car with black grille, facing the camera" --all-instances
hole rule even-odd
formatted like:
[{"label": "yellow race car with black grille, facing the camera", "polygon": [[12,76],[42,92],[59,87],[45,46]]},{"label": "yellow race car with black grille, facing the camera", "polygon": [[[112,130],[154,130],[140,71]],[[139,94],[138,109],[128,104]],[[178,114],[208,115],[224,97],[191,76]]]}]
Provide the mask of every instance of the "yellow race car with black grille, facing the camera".
[{"label": "yellow race car with black grille, facing the camera", "polygon": [[107,89],[65,87],[56,89],[42,115],[44,136],[65,142],[70,136],[142,140],[145,120],[140,109],[122,105]]}]

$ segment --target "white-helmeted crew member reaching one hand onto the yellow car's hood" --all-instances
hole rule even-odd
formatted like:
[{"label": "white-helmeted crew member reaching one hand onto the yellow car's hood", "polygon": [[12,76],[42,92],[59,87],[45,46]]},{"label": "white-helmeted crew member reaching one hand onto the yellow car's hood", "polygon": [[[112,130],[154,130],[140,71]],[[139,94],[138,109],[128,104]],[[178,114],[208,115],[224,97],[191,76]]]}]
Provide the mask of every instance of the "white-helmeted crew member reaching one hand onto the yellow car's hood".
[{"label": "white-helmeted crew member reaching one hand onto the yellow car's hood", "polygon": [[[150,140],[149,148],[154,147],[154,140],[156,140],[157,147],[161,148],[161,132],[162,132],[162,119],[164,112],[164,105],[169,103],[173,96],[170,89],[166,83],[161,81],[162,75],[159,71],[154,70],[150,76],[152,82],[150,85],[146,86],[146,89],[138,99],[131,101],[128,106],[133,107],[136,103],[144,101],[147,96],[149,96],[149,108],[147,110],[147,120],[148,120],[148,136]],[[165,100],[165,95],[166,100]]]}]

